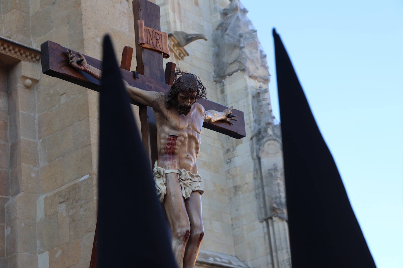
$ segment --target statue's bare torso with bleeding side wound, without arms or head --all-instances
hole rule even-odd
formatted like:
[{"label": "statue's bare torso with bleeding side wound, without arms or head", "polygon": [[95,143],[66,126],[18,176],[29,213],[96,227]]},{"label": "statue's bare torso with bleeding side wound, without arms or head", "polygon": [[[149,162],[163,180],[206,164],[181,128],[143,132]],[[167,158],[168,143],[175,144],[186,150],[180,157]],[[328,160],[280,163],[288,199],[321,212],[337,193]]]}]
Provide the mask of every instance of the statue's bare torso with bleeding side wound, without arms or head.
[{"label": "statue's bare torso with bleeding side wound, without arms or head", "polygon": [[[161,102],[165,103],[164,94],[161,95]],[[176,107],[167,109],[163,106],[155,110],[155,117],[158,166],[164,169],[184,168],[197,174],[196,158],[200,151],[204,108],[195,103],[188,115],[179,115]]]}]

